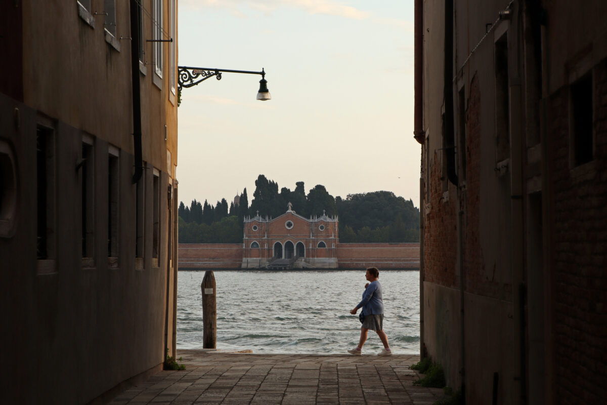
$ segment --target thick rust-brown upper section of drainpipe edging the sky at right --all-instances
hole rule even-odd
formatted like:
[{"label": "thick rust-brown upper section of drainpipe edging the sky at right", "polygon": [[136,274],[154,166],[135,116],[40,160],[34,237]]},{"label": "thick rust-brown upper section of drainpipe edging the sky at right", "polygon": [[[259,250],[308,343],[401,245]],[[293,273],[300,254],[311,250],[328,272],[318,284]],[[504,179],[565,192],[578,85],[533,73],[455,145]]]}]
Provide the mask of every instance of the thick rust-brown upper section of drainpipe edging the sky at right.
[{"label": "thick rust-brown upper section of drainpipe edging the sky at right", "polygon": [[415,0],[415,110],[413,137],[424,144],[424,0]]}]

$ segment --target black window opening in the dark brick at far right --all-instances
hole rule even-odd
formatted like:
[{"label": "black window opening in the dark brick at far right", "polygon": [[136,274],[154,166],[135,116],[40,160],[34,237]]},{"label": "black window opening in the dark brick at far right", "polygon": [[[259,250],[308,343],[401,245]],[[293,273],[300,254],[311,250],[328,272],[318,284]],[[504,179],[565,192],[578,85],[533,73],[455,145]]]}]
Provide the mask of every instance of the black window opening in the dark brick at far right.
[{"label": "black window opening in the dark brick at far right", "polygon": [[571,123],[569,126],[573,166],[592,160],[592,73],[571,84]]}]

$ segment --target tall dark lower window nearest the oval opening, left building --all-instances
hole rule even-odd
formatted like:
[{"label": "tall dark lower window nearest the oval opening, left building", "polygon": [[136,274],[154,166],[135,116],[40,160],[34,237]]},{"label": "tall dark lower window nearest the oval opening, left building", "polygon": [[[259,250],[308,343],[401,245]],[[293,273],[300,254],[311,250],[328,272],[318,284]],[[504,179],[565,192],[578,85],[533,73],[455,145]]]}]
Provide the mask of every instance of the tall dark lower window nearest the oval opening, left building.
[{"label": "tall dark lower window nearest the oval opening, left building", "polygon": [[36,257],[38,274],[55,271],[55,134],[36,130]]}]

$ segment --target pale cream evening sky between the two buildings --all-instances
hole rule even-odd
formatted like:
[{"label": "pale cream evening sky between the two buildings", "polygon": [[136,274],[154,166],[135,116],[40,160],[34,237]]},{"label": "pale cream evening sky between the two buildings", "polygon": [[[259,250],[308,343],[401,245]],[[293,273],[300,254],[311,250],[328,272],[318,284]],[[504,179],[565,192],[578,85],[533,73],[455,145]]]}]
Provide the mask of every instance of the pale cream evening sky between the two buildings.
[{"label": "pale cream evening sky between the two buildings", "polygon": [[[392,191],[419,206],[413,1],[180,0],[178,64],[223,73],[181,91],[179,199],[215,205],[259,174],[334,197]],[[285,210],[287,208],[285,207]]]}]

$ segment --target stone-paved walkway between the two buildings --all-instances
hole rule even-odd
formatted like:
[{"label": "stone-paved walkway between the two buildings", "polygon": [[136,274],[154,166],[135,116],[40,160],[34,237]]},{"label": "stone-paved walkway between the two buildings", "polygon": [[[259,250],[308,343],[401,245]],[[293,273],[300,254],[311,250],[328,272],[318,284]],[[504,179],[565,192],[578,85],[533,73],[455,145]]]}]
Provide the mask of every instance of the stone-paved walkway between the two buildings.
[{"label": "stone-paved walkway between the two buildings", "polygon": [[419,356],[257,355],[179,350],[186,370],[163,371],[111,404],[432,404],[414,386]]}]

